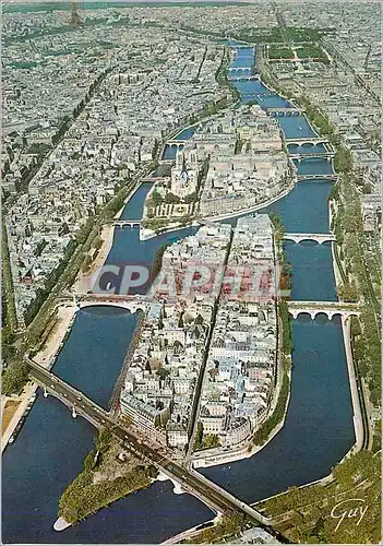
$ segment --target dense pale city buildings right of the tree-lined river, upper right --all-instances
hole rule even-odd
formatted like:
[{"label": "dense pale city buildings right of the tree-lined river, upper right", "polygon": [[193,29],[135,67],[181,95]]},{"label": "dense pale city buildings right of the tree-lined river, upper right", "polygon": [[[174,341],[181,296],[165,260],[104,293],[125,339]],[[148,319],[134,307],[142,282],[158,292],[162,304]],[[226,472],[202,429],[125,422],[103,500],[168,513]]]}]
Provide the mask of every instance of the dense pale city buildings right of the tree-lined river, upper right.
[{"label": "dense pale city buildings right of the tree-lined river, upper right", "polygon": [[[291,27],[327,29],[321,45],[330,64],[321,62],[270,64],[276,80],[292,94],[306,95],[330,119],[350,150],[361,174],[363,228],[381,228],[381,34],[376,2],[308,3],[278,8]],[[336,24],[334,25],[334,21]]]}]

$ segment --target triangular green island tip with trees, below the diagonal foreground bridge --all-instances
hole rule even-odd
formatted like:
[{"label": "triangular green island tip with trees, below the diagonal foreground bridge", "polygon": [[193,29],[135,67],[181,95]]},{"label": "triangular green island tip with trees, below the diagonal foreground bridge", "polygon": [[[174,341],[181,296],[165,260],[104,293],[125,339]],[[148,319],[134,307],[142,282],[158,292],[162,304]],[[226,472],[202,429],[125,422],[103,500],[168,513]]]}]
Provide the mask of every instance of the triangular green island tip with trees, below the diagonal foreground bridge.
[{"label": "triangular green island tip with trees, below the diagonal foreground bridge", "polygon": [[115,500],[151,485],[157,476],[156,468],[140,464],[127,453],[123,460],[119,460],[116,453],[121,451],[109,430],[99,432],[95,448],[85,458],[83,471],[59,500],[59,517],[68,523],[76,523]]}]

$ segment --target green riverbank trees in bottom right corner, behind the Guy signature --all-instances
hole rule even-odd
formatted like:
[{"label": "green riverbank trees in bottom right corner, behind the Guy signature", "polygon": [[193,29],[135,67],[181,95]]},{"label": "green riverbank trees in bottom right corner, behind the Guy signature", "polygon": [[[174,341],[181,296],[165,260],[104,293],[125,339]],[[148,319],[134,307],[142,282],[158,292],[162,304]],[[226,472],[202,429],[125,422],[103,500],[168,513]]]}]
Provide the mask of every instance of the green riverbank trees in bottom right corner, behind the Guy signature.
[{"label": "green riverbank trees in bottom right corner, behind the Guy signature", "polygon": [[[380,424],[376,424],[376,430]],[[381,538],[381,458],[380,434],[372,451],[354,453],[332,468],[332,478],[286,492],[260,502],[273,524],[292,543],[304,544],[378,544]],[[331,517],[333,508],[347,499],[363,499],[364,518]],[[360,507],[346,502],[344,510]],[[342,512],[342,507],[339,507]]]}]

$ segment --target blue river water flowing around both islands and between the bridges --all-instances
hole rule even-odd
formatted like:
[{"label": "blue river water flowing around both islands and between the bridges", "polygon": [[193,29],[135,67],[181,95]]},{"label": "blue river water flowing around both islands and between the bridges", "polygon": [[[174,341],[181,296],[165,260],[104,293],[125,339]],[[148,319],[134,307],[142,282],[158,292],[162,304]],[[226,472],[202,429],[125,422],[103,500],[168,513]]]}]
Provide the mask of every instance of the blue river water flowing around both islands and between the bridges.
[{"label": "blue river water flowing around both islands and between the bridges", "polygon": [[[250,72],[250,48],[239,49],[232,68]],[[236,72],[238,75],[240,72]],[[232,75],[232,74],[231,74]],[[289,106],[262,82],[236,82],[242,102],[258,99],[264,106]],[[315,136],[304,117],[278,118],[287,138]],[[191,135],[191,131],[182,134]],[[180,136],[180,135],[178,135]],[[315,151],[320,151],[320,146]],[[308,147],[299,152],[310,152]],[[291,150],[297,152],[297,147]],[[287,232],[328,232],[327,197],[332,165],[308,158],[300,174],[323,179],[298,182],[285,198],[265,209],[278,212]],[[148,185],[142,186],[125,206],[122,217],[140,218]],[[232,222],[232,221],[231,221]],[[136,229],[115,232],[107,261],[152,262],[155,251],[195,229],[182,229],[148,241]],[[286,242],[292,265],[292,299],[336,300],[330,244]],[[108,406],[135,325],[123,310],[94,307],[76,314],[55,365],[55,372]],[[251,459],[205,468],[202,472],[239,498],[253,502],[328,474],[355,441],[352,406],[339,319],[315,321],[301,316],[292,322],[294,369],[286,424],[262,451]],[[4,543],[159,543],[211,519],[212,512],[190,495],[175,495],[170,482],[100,510],[62,533],[52,530],[58,499],[76,476],[92,449],[95,429],[83,418],[73,419],[52,396],[39,395],[16,441],[3,454]]]}]

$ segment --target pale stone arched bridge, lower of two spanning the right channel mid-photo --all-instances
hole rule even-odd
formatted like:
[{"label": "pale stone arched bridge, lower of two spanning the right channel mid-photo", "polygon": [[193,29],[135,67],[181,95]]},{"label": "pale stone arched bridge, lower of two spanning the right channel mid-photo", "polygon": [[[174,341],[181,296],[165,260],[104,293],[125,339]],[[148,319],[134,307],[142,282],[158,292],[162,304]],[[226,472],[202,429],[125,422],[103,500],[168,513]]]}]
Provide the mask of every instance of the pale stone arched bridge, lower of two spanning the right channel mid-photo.
[{"label": "pale stone arched bridge, lower of two spanning the right channel mid-photo", "polygon": [[325,314],[328,320],[336,314],[345,319],[360,316],[359,304],[349,304],[346,301],[287,301],[288,312],[294,319],[299,314],[310,314],[314,320],[318,314]]}]

